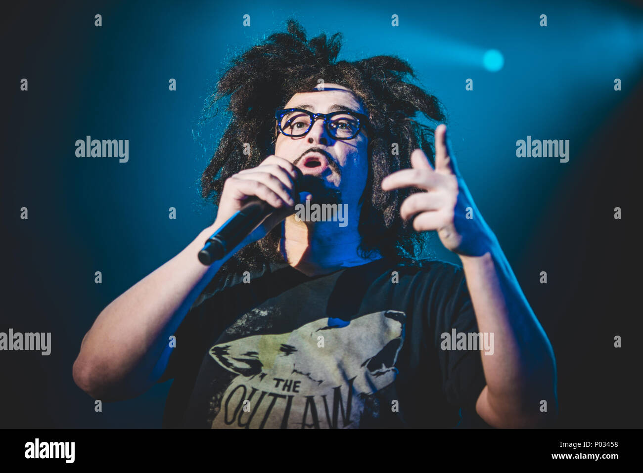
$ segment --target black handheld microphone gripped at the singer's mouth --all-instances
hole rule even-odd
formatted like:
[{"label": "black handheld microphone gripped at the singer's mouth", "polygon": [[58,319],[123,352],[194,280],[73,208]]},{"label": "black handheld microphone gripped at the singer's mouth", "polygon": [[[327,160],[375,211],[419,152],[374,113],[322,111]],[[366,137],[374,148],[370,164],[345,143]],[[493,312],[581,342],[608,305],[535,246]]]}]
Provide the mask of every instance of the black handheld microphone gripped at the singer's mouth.
[{"label": "black handheld microphone gripped at the singer's mouth", "polygon": [[[294,201],[299,201],[299,192],[302,192],[302,172],[294,167],[297,178],[294,179]],[[256,196],[250,197],[248,201],[230,219],[228,219],[217,231],[215,231],[201,251],[199,261],[204,265],[211,265],[221,260],[226,254],[248,237],[261,222],[276,210],[275,207],[262,201]]]}]

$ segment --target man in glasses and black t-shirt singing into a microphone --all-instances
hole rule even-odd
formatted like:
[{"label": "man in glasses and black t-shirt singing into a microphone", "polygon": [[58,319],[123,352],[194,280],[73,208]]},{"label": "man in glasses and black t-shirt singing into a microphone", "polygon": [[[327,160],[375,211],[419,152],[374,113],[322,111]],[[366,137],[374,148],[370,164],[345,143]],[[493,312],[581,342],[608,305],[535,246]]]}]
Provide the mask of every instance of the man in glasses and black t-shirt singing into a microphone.
[{"label": "man in glasses and black t-shirt singing into a microphone", "polygon": [[[399,58],[336,62],[340,39],[290,20],[222,75],[210,107],[230,96],[231,120],[201,178],[215,222],[101,312],[75,381],[109,402],[174,379],[164,427],[552,425],[547,335],[446,127],[413,120],[444,121],[439,101]],[[249,197],[276,211],[204,266]],[[342,224],[304,202],[343,206]],[[462,267],[421,259],[429,231]]]}]

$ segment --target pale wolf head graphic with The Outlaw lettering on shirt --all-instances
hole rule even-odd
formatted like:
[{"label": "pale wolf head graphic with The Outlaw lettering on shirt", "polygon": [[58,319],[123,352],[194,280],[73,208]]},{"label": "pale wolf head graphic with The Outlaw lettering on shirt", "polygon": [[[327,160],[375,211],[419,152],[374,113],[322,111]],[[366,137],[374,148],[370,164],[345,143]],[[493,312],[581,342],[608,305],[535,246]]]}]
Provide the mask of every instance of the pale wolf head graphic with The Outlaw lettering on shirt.
[{"label": "pale wolf head graphic with The Outlaw lettering on shirt", "polygon": [[213,429],[357,428],[368,398],[392,384],[406,315],[327,317],[285,334],[210,348],[234,377],[213,398]]}]

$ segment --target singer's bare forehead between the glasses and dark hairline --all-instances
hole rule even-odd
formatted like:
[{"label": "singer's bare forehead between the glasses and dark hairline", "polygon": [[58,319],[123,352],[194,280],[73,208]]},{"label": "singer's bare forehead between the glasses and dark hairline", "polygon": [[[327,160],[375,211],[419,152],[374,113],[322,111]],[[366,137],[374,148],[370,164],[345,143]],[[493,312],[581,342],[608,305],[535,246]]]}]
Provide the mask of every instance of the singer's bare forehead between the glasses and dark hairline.
[{"label": "singer's bare forehead between the glasses and dark hairline", "polygon": [[338,84],[323,84],[323,90],[294,94],[284,105],[284,109],[306,109],[313,112],[328,113],[348,108],[365,113],[361,100],[350,89]]}]

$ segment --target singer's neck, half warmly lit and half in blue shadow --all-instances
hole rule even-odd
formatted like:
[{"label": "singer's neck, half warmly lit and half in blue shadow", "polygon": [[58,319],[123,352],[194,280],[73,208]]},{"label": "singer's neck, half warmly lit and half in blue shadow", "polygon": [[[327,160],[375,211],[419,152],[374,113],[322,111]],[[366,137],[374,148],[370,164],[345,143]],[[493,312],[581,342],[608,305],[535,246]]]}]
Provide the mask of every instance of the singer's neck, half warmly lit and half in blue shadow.
[{"label": "singer's neck, half warmly lit and half in blue shadow", "polygon": [[345,267],[379,260],[358,254],[361,242],[357,227],[339,228],[338,222],[298,222],[294,216],[284,220],[279,251],[294,269],[307,276],[318,276]]}]

